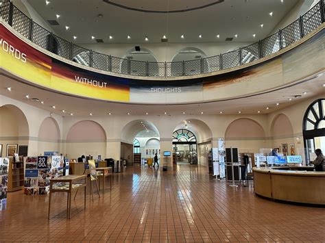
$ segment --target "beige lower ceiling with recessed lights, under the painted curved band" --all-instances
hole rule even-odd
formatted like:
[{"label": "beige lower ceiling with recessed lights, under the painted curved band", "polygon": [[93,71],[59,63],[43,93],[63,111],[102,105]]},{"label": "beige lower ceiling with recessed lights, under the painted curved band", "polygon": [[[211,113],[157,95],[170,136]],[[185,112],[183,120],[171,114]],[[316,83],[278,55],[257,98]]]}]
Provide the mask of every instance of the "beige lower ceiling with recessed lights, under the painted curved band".
[{"label": "beige lower ceiling with recessed lights, under the painted curved band", "polygon": [[[223,114],[239,114],[239,112],[241,114],[257,114],[258,111],[261,114],[267,114],[298,103],[303,99],[325,94],[325,73],[313,75],[287,88],[265,92],[265,94],[252,97],[184,105],[110,103],[43,90],[25,84],[19,79],[11,79],[3,75],[0,76],[0,80],[0,94],[60,116],[70,116],[71,113],[73,113],[73,116],[90,116],[90,113],[93,116],[128,116],[128,113],[130,113],[129,116],[146,116],[147,113],[154,116],[186,115],[191,117],[191,115],[201,116],[220,114],[220,112],[223,112]],[[7,90],[8,87],[11,87],[11,91]],[[303,92],[307,93],[303,94]],[[29,99],[25,97],[27,94]],[[295,95],[301,95],[301,97],[295,98]],[[33,98],[37,98],[39,101],[33,101]],[[292,100],[289,101],[289,99]],[[40,101],[44,101],[44,104],[40,103]],[[276,103],[279,103],[279,105],[276,105]],[[55,105],[55,109],[52,107],[53,105]],[[267,110],[266,107],[269,107],[269,109]],[[153,128],[148,127],[148,129],[152,130]]]}]

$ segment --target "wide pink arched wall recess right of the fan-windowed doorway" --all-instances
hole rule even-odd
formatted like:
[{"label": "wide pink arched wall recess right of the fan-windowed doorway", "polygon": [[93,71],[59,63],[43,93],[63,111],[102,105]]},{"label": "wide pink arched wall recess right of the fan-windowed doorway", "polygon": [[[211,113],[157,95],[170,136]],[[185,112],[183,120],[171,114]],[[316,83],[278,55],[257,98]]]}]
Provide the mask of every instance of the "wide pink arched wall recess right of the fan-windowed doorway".
[{"label": "wide pink arched wall recess right of the fan-windowed doorway", "polygon": [[256,153],[270,146],[265,140],[263,127],[249,118],[239,118],[228,125],[225,144],[227,147],[238,148],[241,153]]}]

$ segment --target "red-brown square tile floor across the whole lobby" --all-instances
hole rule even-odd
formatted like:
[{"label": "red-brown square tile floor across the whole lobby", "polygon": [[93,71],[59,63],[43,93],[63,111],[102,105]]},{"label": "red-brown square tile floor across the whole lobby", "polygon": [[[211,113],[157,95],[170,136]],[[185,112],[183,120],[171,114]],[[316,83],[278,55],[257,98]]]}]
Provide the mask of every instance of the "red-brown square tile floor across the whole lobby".
[{"label": "red-brown square tile floor across the whole lobby", "polygon": [[49,196],[9,193],[0,242],[325,242],[324,208],[261,199],[200,166],[128,168],[104,198],[87,195],[86,210],[80,192],[71,220],[62,194],[54,194],[48,220]]}]

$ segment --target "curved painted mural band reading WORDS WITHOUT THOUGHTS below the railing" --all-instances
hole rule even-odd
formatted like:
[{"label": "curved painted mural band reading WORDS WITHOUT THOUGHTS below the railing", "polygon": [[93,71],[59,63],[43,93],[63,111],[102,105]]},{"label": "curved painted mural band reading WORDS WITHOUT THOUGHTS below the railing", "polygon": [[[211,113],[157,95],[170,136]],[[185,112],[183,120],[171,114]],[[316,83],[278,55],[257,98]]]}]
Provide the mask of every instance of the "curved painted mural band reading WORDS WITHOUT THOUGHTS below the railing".
[{"label": "curved painted mural band reading WORDS WITHOUT THOUGHTS below the railing", "polygon": [[125,103],[219,101],[281,88],[324,70],[323,28],[324,24],[315,30],[319,32],[313,33],[314,36],[307,35],[250,64],[206,75],[159,79],[117,77],[63,60],[48,51],[39,51],[39,47],[18,38],[13,34],[16,32],[3,23],[0,25],[3,40],[0,55],[5,62],[1,62],[1,67],[30,84],[91,99]]}]

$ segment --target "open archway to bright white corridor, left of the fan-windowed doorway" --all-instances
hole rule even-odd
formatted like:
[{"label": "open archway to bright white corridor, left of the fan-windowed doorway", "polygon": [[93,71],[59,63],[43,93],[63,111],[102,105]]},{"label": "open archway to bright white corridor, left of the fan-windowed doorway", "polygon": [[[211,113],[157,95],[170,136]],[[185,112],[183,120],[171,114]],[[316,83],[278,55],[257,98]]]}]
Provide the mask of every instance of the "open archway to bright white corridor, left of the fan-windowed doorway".
[{"label": "open archway to bright white corridor, left of the fan-windowed doorway", "polygon": [[132,120],[125,125],[121,140],[121,158],[126,159],[128,165],[146,163],[148,158],[160,154],[159,131],[148,120]]}]

